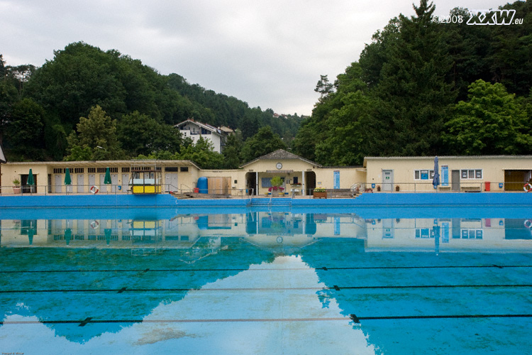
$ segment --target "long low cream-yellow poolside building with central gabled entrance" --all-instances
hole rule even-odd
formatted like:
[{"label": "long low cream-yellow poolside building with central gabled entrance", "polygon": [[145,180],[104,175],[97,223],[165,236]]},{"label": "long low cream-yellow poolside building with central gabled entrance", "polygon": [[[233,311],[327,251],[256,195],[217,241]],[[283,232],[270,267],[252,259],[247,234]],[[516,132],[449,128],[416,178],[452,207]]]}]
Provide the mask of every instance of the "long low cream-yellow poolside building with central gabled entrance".
[{"label": "long low cream-yellow poolside building with central gabled entrance", "polygon": [[[65,185],[69,168],[72,185]],[[106,168],[111,184],[104,184]],[[27,185],[32,169],[35,187]],[[190,160],[110,160],[17,162],[1,164],[1,194],[193,192],[199,178],[215,195],[268,195],[271,179],[281,177],[285,196],[312,195],[315,188],[350,190],[365,185],[373,192],[433,192],[434,157],[367,157],[358,167],[325,167],[282,149],[234,170],[202,170]],[[532,182],[532,155],[439,157],[439,192],[523,191]],[[131,182],[131,184],[130,184]],[[92,188],[94,187],[94,188]]]}]

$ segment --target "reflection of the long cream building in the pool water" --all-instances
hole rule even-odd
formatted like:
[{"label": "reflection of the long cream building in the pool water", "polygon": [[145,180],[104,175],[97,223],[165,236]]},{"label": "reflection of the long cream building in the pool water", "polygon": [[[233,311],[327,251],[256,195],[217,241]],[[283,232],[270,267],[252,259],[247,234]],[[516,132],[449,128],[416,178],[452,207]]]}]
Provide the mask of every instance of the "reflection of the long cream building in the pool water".
[{"label": "reflection of the long cream building in the pool water", "polygon": [[[528,226],[527,226],[528,223]],[[530,251],[532,222],[508,218],[362,219],[357,214],[248,212],[177,214],[171,219],[4,219],[1,246],[182,249],[194,263],[226,249],[226,238],[288,255],[316,241],[363,239],[365,251]]]}]

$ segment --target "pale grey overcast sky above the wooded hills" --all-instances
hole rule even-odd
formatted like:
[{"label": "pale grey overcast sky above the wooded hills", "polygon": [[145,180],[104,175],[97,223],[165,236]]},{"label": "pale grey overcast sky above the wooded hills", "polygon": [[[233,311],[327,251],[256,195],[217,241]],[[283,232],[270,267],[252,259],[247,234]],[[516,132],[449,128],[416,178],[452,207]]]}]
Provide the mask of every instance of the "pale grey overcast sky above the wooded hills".
[{"label": "pale grey overcast sky above the wooded hills", "polygon": [[[444,16],[506,2],[434,4]],[[41,66],[54,50],[83,41],[250,107],[311,114],[319,76],[333,81],[399,13],[412,16],[412,1],[0,0],[0,54],[6,65]]]}]

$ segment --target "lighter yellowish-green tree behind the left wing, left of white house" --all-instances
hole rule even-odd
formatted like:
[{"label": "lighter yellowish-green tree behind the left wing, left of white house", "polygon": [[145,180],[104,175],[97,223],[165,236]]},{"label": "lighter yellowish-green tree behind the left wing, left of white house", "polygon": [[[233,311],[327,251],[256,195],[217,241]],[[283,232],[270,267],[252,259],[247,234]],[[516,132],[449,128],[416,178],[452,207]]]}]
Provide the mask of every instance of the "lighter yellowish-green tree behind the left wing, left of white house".
[{"label": "lighter yellowish-green tree behind the left wing, left of white house", "polygon": [[[99,105],[93,107],[89,117],[80,117],[78,134],[68,136],[69,155],[65,160],[74,160],[76,153],[92,152],[91,160],[120,159],[124,153],[116,138],[116,120],[106,115]],[[73,154],[74,153],[74,154]]]}]

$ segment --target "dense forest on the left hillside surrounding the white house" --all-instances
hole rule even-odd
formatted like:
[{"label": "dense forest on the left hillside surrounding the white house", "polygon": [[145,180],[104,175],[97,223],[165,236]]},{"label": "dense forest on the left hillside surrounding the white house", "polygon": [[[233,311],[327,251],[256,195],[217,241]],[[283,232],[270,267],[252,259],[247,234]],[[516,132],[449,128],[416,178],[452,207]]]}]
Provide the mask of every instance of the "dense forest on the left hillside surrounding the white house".
[{"label": "dense forest on the left hillside surrounding the white house", "polygon": [[[0,54],[0,143],[11,161],[195,157],[209,168],[235,168],[255,158],[241,155],[250,138],[266,132],[287,147],[301,121],[82,42],[42,67],[7,64]],[[234,129],[227,154],[184,141],[173,126],[189,118]]]}]

